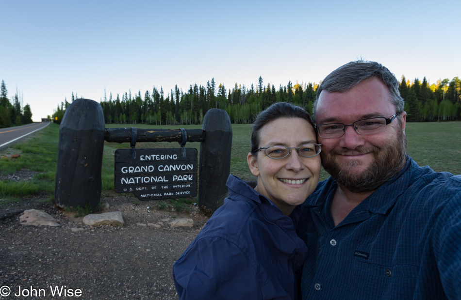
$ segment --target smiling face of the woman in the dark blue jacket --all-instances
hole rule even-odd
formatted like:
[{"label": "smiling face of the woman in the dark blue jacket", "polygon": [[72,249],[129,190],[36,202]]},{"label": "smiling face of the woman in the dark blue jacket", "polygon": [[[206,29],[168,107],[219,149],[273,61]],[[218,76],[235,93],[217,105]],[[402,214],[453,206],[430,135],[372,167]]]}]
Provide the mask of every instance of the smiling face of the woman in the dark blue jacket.
[{"label": "smiling face of the woman in the dark blue jacket", "polygon": [[[258,147],[282,145],[299,147],[316,143],[315,131],[302,118],[278,118],[264,125]],[[296,149],[281,159],[269,158],[264,150],[247,156],[251,173],[258,176],[256,191],[269,198],[284,215],[289,216],[317,187],[320,177],[320,156],[305,158]]]}]

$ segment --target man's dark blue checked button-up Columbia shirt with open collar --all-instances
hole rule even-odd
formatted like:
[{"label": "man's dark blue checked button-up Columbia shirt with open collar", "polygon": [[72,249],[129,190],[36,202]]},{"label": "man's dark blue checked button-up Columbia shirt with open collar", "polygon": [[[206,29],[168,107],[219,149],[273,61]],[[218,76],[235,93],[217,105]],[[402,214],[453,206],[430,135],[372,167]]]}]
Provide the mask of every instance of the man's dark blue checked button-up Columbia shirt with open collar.
[{"label": "man's dark blue checked button-up Columbia shirt with open collar", "polygon": [[408,157],[336,227],[329,178],[302,206],[303,299],[461,299],[461,175]]}]

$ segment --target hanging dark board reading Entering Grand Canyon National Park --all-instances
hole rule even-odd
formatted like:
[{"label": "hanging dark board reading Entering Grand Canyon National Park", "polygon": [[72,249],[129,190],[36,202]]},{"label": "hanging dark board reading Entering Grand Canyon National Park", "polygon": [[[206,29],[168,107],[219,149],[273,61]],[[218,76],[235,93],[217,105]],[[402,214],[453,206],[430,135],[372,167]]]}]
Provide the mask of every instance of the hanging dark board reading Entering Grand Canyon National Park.
[{"label": "hanging dark board reading Entering Grand Canyon National Park", "polygon": [[198,159],[195,148],[115,151],[115,191],[132,192],[139,200],[197,196]]}]

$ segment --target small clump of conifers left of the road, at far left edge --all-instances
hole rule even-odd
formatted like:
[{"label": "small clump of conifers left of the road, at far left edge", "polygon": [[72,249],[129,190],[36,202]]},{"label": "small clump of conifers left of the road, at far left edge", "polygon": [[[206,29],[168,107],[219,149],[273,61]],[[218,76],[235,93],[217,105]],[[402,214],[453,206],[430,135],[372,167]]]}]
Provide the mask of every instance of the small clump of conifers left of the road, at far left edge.
[{"label": "small clump of conifers left of the road, at far left edge", "polygon": [[8,99],[8,90],[5,82],[1,80],[0,89],[0,128],[10,126],[20,126],[32,123],[32,111],[29,104],[22,107],[22,96],[16,95],[12,97],[12,102]]}]

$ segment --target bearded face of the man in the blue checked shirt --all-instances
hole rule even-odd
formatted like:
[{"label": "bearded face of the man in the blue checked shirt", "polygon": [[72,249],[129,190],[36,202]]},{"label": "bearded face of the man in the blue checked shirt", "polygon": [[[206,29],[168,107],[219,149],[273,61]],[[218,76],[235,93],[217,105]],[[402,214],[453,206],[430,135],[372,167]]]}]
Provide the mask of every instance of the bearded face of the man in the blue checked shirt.
[{"label": "bearded face of the man in the blue checked shirt", "polygon": [[[388,88],[378,78],[362,81],[344,93],[322,91],[317,103],[317,125],[352,124],[374,117],[389,118],[396,113]],[[401,120],[401,125],[398,118]],[[353,126],[339,138],[322,138],[322,165],[339,185],[352,192],[377,189],[404,165],[406,112],[384,131],[358,134]]]}]

